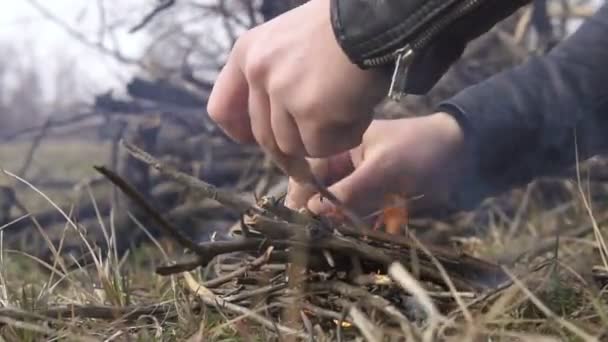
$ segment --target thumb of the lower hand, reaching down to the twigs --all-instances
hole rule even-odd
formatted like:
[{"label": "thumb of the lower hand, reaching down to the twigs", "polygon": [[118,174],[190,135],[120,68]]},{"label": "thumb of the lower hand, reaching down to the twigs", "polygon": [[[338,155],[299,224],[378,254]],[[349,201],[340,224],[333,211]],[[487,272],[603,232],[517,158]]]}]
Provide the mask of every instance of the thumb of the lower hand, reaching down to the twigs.
[{"label": "thumb of the lower hand, reaching down to the twigs", "polygon": [[[373,212],[386,189],[386,177],[381,175],[381,171],[375,166],[376,163],[365,160],[350,175],[334,183],[328,190],[345,206],[360,215]],[[308,209],[317,214],[324,214],[336,208],[330,200],[315,195],[308,201]]]}]

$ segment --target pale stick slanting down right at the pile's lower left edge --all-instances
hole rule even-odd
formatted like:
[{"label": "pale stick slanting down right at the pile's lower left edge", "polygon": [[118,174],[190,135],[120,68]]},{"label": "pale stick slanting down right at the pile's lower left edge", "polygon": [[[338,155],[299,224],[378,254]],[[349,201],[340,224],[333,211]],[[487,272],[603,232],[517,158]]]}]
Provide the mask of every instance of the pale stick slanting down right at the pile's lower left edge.
[{"label": "pale stick slanting down right at the pile's lower left edge", "polygon": [[273,322],[271,322],[270,320],[266,319],[265,317],[255,313],[254,311],[247,309],[245,307],[242,307],[240,305],[236,305],[230,302],[227,302],[225,300],[223,300],[222,298],[217,297],[215,294],[213,294],[211,291],[209,291],[208,289],[202,287],[195,279],[194,277],[192,277],[192,275],[190,275],[189,273],[184,273],[184,278],[186,280],[186,284],[188,285],[188,288],[195,293],[196,295],[199,296],[199,298],[203,301],[203,303],[205,303],[208,306],[212,306],[212,307],[220,307],[222,309],[234,312],[236,314],[239,315],[247,315],[247,317],[252,320],[257,322],[258,324],[268,328],[268,329],[277,329],[278,331],[280,331],[283,334],[288,334],[288,335],[294,335],[297,336],[299,338],[303,338],[303,339],[307,339],[309,338],[308,334],[305,334],[303,332],[300,331],[296,331],[293,330],[291,328],[288,327],[284,327],[282,325],[279,324],[275,324]]}]

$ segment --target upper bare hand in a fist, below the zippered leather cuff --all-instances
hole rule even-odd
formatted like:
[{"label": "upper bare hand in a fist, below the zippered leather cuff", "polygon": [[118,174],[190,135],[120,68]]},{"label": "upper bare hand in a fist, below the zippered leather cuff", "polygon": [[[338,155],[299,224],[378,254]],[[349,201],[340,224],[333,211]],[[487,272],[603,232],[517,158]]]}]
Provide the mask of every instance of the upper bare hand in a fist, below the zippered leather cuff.
[{"label": "upper bare hand in a fist, below the zippered leather cuff", "polygon": [[311,0],[243,34],[209,98],[209,115],[230,137],[256,141],[293,177],[304,157],[359,145],[387,91],[386,76],[341,50],[329,3]]}]

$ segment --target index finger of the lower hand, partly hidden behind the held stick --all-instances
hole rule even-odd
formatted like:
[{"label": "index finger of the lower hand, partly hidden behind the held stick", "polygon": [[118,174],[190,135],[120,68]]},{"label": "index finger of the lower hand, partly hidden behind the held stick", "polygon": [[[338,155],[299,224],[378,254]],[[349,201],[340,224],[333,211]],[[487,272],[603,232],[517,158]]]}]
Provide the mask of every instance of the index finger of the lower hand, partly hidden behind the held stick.
[{"label": "index finger of the lower hand, partly hidden behind the held stick", "polygon": [[[315,178],[324,185],[332,184],[354,170],[348,152],[327,159],[311,159],[309,164]],[[316,193],[317,188],[310,183],[301,183],[290,178],[285,205],[296,210],[303,208]]]}]

